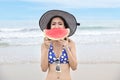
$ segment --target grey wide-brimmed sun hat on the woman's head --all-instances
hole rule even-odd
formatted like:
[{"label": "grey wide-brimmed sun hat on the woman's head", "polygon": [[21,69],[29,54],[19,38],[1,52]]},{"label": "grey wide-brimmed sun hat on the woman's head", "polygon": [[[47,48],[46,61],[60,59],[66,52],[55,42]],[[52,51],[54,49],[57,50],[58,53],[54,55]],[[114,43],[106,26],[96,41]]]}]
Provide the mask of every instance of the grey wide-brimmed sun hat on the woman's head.
[{"label": "grey wide-brimmed sun hat on the woman's head", "polygon": [[54,16],[61,16],[65,19],[70,29],[69,36],[73,35],[77,29],[77,25],[80,25],[77,23],[76,18],[72,14],[62,10],[50,10],[44,13],[39,20],[39,26],[42,31],[46,29],[50,19]]}]

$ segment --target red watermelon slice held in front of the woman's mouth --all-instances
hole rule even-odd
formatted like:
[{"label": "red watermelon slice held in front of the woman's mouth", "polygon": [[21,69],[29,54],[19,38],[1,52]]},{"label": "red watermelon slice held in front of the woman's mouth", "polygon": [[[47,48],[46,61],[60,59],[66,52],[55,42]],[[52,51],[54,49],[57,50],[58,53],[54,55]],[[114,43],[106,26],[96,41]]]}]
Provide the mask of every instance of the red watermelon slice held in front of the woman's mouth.
[{"label": "red watermelon slice held in front of the woman's mouth", "polygon": [[69,32],[70,32],[69,29],[53,28],[53,29],[45,29],[44,35],[49,39],[59,40],[67,37],[69,35]]}]

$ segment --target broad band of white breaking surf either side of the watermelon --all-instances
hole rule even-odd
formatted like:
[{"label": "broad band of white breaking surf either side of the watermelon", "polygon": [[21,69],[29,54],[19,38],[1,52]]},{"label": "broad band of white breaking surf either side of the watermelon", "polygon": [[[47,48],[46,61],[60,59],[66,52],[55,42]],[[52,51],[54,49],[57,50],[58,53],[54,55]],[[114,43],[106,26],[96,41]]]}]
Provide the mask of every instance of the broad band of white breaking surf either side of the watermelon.
[{"label": "broad band of white breaking surf either side of the watermelon", "polygon": [[[37,28],[1,29],[0,46],[38,45],[44,35]],[[120,44],[120,30],[81,30],[77,29],[71,36],[80,44]]]}]

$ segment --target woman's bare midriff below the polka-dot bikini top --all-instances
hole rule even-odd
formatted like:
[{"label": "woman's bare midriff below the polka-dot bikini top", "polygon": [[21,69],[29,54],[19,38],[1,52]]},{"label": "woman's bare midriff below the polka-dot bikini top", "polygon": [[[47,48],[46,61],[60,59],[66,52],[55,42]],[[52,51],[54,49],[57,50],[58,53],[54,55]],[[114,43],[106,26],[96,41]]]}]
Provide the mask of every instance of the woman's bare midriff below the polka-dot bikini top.
[{"label": "woman's bare midriff below the polka-dot bikini top", "polygon": [[56,71],[56,64],[49,64],[46,80],[71,80],[69,64],[60,64],[61,71]]}]

